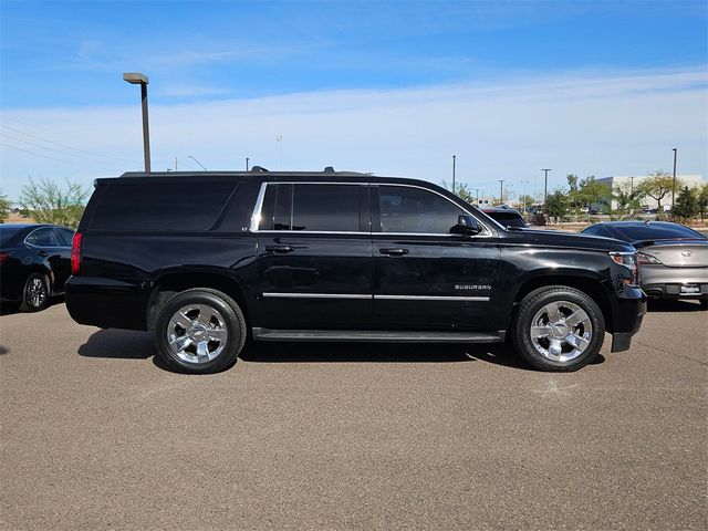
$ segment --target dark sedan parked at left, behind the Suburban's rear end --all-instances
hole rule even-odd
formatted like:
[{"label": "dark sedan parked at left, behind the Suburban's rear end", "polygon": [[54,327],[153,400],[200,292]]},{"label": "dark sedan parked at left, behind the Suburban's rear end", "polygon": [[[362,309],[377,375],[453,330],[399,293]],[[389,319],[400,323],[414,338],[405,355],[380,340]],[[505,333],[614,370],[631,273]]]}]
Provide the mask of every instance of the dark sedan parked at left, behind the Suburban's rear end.
[{"label": "dark sedan parked at left, behind the Suburban's rear end", "polygon": [[64,292],[74,231],[54,225],[0,225],[0,296],[38,312]]}]

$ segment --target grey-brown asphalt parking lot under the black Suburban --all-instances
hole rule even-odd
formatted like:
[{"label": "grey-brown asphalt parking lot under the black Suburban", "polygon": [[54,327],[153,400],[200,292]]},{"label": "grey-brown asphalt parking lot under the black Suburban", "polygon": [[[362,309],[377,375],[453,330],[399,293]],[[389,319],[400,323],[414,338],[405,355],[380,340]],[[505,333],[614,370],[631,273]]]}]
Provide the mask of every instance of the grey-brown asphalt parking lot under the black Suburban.
[{"label": "grey-brown asphalt parking lot under the black Suburban", "polygon": [[506,346],[257,345],[184,376],[62,303],[0,316],[2,529],[707,529],[708,319],[573,374]]}]

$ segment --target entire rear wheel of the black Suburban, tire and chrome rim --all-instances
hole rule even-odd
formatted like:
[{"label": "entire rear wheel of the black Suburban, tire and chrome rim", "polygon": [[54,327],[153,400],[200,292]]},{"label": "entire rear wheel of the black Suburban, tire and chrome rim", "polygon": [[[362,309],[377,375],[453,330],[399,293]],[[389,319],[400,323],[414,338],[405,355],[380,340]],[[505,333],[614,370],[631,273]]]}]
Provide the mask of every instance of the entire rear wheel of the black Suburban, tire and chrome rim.
[{"label": "entire rear wheel of the black Suburban, tire and chrome rim", "polygon": [[208,288],[177,293],[158,310],[155,321],[157,355],[180,373],[228,368],[243,348],[246,336],[246,320],[236,301]]}]

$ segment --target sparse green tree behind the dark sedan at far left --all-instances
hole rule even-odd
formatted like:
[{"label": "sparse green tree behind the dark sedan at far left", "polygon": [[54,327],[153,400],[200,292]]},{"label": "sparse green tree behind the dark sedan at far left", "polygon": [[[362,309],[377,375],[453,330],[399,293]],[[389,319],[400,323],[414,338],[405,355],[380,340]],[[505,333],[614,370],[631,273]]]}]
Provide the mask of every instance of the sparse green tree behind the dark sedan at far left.
[{"label": "sparse green tree behind the dark sedan at far left", "polygon": [[39,223],[56,223],[75,229],[84,211],[84,201],[90,190],[77,183],[66,180],[66,188],[61,188],[50,179],[30,183],[21,190],[20,204],[29,210]]}]

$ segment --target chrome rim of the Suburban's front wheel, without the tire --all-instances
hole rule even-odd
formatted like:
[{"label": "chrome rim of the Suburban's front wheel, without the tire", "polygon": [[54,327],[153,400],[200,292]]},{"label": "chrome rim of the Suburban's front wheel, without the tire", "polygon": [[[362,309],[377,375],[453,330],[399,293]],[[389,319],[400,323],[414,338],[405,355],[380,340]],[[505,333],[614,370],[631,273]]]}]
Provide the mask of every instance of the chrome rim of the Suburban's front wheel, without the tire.
[{"label": "chrome rim of the Suburban's front wheel, without the tire", "polygon": [[593,339],[587,313],[569,301],[553,301],[531,321],[531,342],[539,354],[553,362],[570,362],[585,352]]}]

